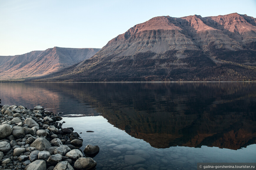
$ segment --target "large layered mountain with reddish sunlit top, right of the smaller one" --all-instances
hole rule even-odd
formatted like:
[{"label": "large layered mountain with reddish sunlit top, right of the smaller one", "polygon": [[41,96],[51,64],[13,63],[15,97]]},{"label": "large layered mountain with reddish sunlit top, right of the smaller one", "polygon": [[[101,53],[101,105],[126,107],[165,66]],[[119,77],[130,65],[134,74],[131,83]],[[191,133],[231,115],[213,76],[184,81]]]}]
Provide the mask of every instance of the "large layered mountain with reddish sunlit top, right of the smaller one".
[{"label": "large layered mountain with reddish sunlit top, right of the smaller one", "polygon": [[48,73],[24,81],[253,81],[256,18],[155,17],[110,40],[90,59]]}]

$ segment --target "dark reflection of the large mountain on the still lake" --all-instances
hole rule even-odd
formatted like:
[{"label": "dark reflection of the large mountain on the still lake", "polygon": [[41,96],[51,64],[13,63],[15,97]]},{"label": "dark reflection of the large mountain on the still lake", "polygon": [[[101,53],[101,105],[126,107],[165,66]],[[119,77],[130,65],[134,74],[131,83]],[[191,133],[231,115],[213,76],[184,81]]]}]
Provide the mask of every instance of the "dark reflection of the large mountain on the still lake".
[{"label": "dark reflection of the large mountain on the still lake", "polygon": [[[38,84],[28,83],[22,91],[35,88]],[[43,83],[40,88],[58,98],[59,103],[51,98],[41,102],[47,107],[52,103],[67,113],[71,99],[86,103],[96,110],[92,115],[102,113],[115,127],[155,148],[236,150],[256,143],[255,82]]]}]

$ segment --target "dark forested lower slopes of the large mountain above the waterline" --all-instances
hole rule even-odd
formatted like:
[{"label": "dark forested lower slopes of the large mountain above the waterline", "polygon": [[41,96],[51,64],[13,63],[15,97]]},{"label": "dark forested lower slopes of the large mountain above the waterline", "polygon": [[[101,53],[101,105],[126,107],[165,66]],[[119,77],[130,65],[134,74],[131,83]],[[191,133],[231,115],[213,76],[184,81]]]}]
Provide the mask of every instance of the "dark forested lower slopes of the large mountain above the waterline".
[{"label": "dark forested lower slopes of the large mountain above the waterline", "polygon": [[[215,61],[209,55],[217,56]],[[221,49],[210,54],[200,50],[114,54],[28,81],[255,81],[255,56],[253,50]]]}]

